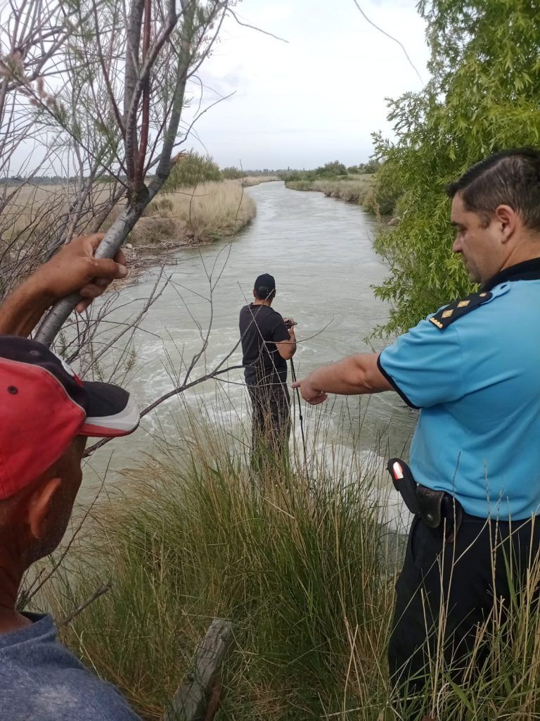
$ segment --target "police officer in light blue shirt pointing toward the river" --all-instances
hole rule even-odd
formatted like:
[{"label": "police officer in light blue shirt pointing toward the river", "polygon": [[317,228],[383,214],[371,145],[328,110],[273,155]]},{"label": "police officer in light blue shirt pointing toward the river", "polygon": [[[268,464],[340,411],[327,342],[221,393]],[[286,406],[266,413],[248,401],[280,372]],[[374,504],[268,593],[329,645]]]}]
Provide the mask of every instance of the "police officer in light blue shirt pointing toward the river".
[{"label": "police officer in light blue shirt pointing toward the river", "polygon": [[[540,544],[540,152],[492,155],[448,193],[452,249],[480,290],[382,353],[296,384],[311,404],[395,390],[420,410],[410,446],[417,513],[389,645],[393,680],[409,687],[425,681],[437,638],[454,678],[475,644],[482,663],[477,629],[508,611],[510,585],[523,588]],[[399,484],[406,466],[396,467]]]}]

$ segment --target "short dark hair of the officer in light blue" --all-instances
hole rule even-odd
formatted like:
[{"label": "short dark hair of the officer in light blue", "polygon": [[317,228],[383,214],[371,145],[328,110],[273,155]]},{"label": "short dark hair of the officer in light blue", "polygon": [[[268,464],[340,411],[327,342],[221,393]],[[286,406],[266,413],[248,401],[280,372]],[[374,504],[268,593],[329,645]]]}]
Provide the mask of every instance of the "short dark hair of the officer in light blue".
[{"label": "short dark hair of the officer in light blue", "polygon": [[490,155],[446,188],[488,224],[498,205],[510,205],[526,227],[540,230],[540,151],[513,148]]}]

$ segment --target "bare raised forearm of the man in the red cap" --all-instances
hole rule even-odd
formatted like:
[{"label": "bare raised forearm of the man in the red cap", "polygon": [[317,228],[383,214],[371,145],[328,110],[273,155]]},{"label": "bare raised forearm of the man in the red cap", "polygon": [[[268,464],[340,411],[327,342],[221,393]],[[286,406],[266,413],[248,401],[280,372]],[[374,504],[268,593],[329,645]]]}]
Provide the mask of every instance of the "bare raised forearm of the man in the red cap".
[{"label": "bare raised forearm of the man in the red cap", "polygon": [[29,278],[0,305],[0,334],[27,337],[52,301]]}]

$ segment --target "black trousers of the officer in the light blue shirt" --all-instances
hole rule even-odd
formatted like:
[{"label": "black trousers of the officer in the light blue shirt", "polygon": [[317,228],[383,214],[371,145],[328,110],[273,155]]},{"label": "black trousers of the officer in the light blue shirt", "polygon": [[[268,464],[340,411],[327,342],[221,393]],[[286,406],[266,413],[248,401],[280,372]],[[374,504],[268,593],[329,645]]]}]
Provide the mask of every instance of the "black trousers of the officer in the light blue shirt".
[{"label": "black trousers of the officer in the light blue shirt", "polygon": [[[500,618],[502,610],[504,618],[512,597],[510,584],[519,603],[527,569],[538,562],[539,544],[540,518],[508,523],[464,513],[456,539],[445,544],[439,531],[415,516],[396,586],[388,650],[394,684],[419,690],[430,673],[429,658],[433,664],[441,640],[444,659],[451,662],[459,683],[478,625],[493,613],[495,599],[503,604],[497,615]],[[485,653],[485,647],[477,647],[477,665]]]}]

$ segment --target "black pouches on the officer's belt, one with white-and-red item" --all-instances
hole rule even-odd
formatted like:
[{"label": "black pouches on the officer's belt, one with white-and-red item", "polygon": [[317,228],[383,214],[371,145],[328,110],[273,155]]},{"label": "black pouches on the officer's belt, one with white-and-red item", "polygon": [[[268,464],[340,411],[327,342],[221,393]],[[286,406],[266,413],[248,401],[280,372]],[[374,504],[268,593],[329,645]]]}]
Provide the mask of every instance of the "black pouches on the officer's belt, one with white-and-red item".
[{"label": "black pouches on the officer's belt, one with white-and-red item", "polygon": [[463,518],[461,503],[446,491],[418,484],[409,466],[400,458],[391,458],[387,469],[410,512],[420,516],[426,526],[444,536],[445,541],[454,539]]}]

